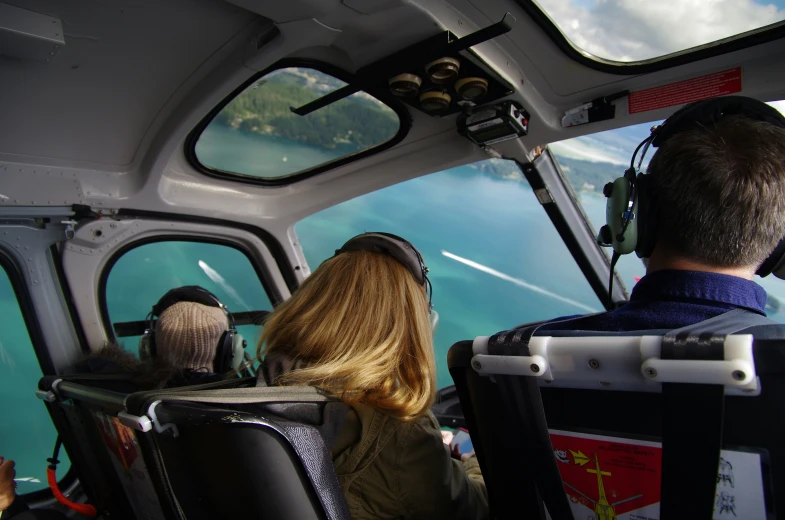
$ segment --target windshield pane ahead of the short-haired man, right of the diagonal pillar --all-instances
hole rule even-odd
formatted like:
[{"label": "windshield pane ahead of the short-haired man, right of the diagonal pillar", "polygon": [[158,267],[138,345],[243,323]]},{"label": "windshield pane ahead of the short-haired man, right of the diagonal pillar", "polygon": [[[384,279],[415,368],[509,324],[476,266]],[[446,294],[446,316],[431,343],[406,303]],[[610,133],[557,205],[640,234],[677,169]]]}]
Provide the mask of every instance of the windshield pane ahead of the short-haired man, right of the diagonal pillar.
[{"label": "windshield pane ahead of the short-haired man, right of the diagonal pillar", "polygon": [[[785,114],[785,101],[769,103]],[[630,157],[635,147],[649,135],[651,127],[662,121],[618,128],[607,132],[567,139],[549,145],[565,178],[570,182],[578,201],[583,206],[590,223],[596,230],[605,224],[605,197],[602,187],[624,175],[630,166]],[[655,150],[650,150],[641,169],[646,170]],[[637,164],[636,164],[637,166]],[[610,254],[610,249],[606,249]],[[633,253],[622,255],[616,264],[616,272],[622,277],[628,290],[646,274],[643,262]],[[776,277],[756,277],[755,281],[769,293],[767,312],[770,318],[785,322],[785,281]]]}]

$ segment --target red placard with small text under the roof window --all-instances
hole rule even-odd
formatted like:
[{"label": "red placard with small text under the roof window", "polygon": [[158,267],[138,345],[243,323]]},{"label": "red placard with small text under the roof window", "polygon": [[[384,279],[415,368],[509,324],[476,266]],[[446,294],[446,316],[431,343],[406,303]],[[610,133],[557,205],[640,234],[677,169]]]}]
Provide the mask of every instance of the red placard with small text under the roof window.
[{"label": "red placard with small text under the roof window", "polygon": [[741,67],[631,92],[628,98],[629,109],[630,114],[637,114],[736,92],[741,92]]}]

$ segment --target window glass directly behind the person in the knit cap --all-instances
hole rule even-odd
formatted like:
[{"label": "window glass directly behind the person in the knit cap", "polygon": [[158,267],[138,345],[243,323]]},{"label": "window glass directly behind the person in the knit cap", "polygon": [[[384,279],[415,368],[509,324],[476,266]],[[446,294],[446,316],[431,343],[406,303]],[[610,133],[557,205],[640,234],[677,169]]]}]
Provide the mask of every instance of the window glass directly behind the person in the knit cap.
[{"label": "window glass directly behind the person in the knit cap", "polygon": [[[272,310],[270,298],[251,261],[234,247],[207,242],[165,241],[127,251],[112,266],[106,283],[106,307],[113,324],[144,320],[169,289],[199,285],[215,294],[230,312]],[[238,331],[254,353],[259,327]],[[139,336],[117,337],[138,352]]]}]

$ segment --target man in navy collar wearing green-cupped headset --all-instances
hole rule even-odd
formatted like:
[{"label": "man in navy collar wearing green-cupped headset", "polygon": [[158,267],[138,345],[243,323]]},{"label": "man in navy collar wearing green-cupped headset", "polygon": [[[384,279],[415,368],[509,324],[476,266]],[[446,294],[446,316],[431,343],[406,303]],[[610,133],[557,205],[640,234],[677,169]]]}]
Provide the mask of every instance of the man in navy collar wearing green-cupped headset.
[{"label": "man in navy collar wearing green-cupped headset", "polygon": [[[642,162],[649,145],[657,153],[648,173],[637,173],[635,156],[643,148]],[[766,291],[753,275],[779,276],[785,264],[779,112],[741,96],[687,105],[652,130],[604,193],[608,225],[599,240],[613,247],[612,266],[635,251],[646,276],[626,305],[539,331],[676,329],[733,309],[765,316]]]}]

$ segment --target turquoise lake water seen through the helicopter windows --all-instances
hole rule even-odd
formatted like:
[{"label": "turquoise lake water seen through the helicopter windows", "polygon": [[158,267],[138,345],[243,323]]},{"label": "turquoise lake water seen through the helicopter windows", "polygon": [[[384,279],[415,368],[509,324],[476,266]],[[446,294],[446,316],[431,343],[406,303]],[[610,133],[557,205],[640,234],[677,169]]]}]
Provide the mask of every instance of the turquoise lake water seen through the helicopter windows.
[{"label": "turquoise lake water seen through the helicopter windows", "polygon": [[[216,133],[204,149],[223,154],[221,164],[258,163],[260,173],[273,170],[284,156],[287,164],[300,160],[302,144],[245,134],[242,139],[254,146],[238,148],[233,135],[235,131]],[[320,150],[308,153],[311,163],[333,157]],[[605,199],[591,193],[580,198],[590,219],[601,222]],[[602,310],[528,184],[494,176],[476,165],[355,198],[304,219],[295,230],[311,270],[348,238],[365,231],[395,233],[420,249],[430,268],[434,308],[441,318],[435,335],[440,387],[452,384],[446,355],[457,341],[535,320]],[[255,277],[253,270],[238,255],[199,243],[135,249],[118,261],[110,276],[110,316],[113,321],[144,319],[166,290],[190,284],[213,291],[233,311],[269,308],[260,285],[249,279]],[[625,257],[618,269],[628,289],[634,277],[645,272],[634,255]],[[767,279],[764,286],[785,299],[782,281]],[[2,286],[0,306],[5,316],[14,316],[10,286]],[[773,317],[785,321],[781,313]],[[0,455],[17,460],[18,476],[41,481],[20,483],[20,492],[29,492],[44,486],[54,431],[43,404],[34,397],[40,369],[21,316],[15,319],[0,333],[0,416],[5,418],[0,422]],[[242,332],[249,343],[258,334],[253,327]],[[126,348],[135,351],[136,338],[129,338]]]}]

